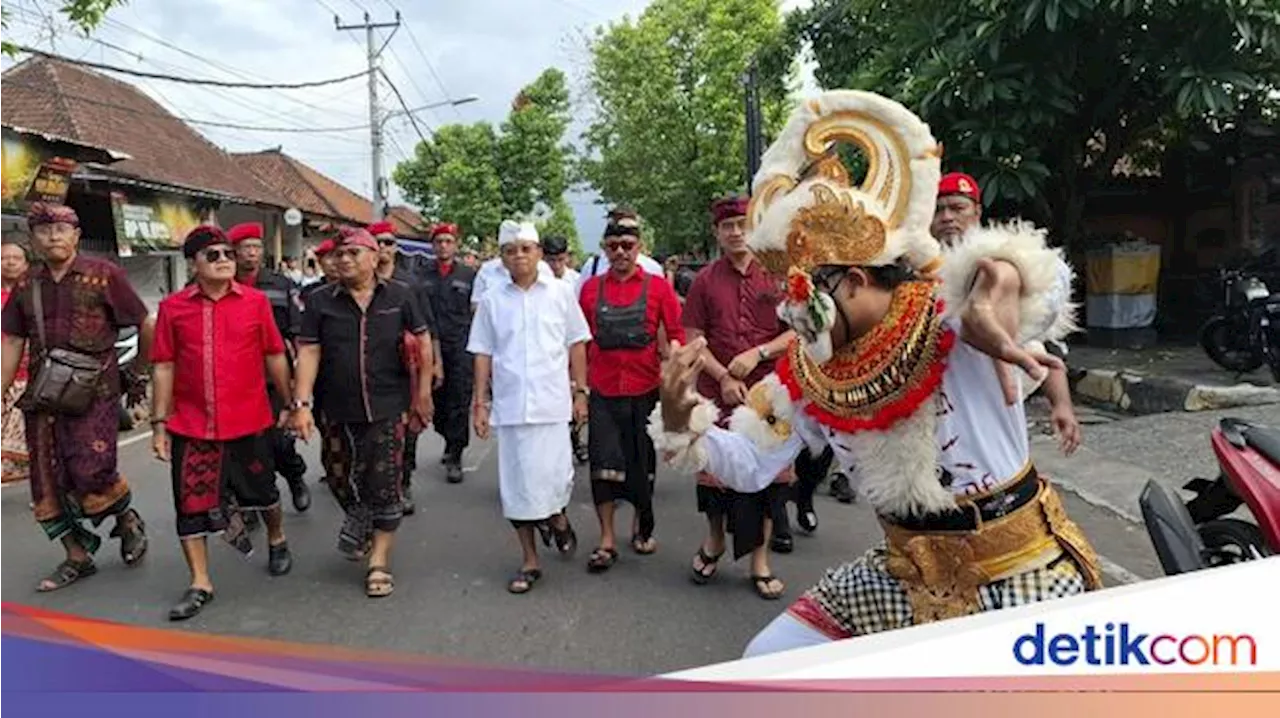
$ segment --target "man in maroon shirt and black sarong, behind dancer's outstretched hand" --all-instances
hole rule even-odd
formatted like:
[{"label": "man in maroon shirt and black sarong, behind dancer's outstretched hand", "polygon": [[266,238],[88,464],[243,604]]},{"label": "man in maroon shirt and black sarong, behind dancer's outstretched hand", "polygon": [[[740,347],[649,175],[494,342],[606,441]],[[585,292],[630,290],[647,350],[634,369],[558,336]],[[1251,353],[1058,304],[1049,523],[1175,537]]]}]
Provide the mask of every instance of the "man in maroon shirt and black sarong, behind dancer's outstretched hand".
[{"label": "man in maroon shirt and black sarong, behind dancer's outstretched hand", "polygon": [[[690,339],[707,338],[698,392],[716,402],[722,420],[746,403],[748,390],[773,371],[773,360],[795,337],[778,321],[778,282],[746,244],[746,207],[742,197],[712,205],[722,256],[698,273],[685,298]],[[776,507],[786,511],[785,489],[794,480],[795,472],[788,468],[769,489],[739,494],[710,474],[698,475],[698,511],[707,516],[709,532],[694,558],[694,581],[705,584],[716,575],[728,530],[733,534],[733,558],[751,554],[755,593],[764,599],[782,595],[786,586],[769,571],[768,535],[773,527],[771,515]]]}]

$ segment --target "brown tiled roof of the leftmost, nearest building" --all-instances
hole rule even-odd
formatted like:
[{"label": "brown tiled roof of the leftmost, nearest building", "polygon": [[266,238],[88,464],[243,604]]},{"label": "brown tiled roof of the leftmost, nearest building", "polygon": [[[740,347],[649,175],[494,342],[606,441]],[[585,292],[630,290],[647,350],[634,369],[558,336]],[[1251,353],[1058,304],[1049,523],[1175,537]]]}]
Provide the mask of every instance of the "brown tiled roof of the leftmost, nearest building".
[{"label": "brown tiled roof of the leftmost, nearest building", "polygon": [[284,206],[221,148],[132,84],[47,58],[0,73],[0,123],[131,156],[108,172]]}]

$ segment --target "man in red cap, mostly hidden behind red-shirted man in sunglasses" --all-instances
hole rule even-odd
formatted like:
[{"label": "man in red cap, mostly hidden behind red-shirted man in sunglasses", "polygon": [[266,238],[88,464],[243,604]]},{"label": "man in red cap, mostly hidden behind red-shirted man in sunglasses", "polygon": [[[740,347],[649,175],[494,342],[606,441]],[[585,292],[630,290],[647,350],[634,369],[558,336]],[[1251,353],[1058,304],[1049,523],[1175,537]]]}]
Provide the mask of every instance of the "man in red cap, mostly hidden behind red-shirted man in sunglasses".
[{"label": "man in red cap, mostly hidden behind red-shirted man in sunglasses", "polygon": [[[302,301],[298,296],[298,285],[293,280],[262,266],[265,256],[262,238],[262,224],[257,221],[237,224],[227,230],[227,239],[236,247],[236,282],[262,292],[271,301],[275,326],[284,337],[292,360],[296,356],[293,342],[302,323]],[[271,399],[273,411],[280,412],[288,408],[271,385],[268,385],[266,390]],[[293,508],[298,512],[311,508],[311,490],[307,489],[305,479],[307,463],[298,456],[293,436],[280,429],[273,429],[271,445],[275,453],[275,471],[289,484],[289,493],[293,494]]]}]

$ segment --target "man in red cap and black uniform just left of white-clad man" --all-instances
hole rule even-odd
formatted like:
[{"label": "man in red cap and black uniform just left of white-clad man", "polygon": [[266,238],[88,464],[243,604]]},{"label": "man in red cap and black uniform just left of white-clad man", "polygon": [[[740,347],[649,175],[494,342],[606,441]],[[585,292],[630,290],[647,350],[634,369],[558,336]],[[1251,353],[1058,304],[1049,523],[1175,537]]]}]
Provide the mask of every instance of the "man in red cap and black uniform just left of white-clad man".
[{"label": "man in red cap and black uniform just left of white-clad man", "polygon": [[444,438],[445,477],[462,481],[462,452],[471,440],[467,408],[475,383],[475,361],[467,352],[471,335],[471,291],[476,273],[458,264],[458,225],[438,224],[431,229],[435,259],[422,271],[422,285],[435,315],[443,379],[435,380],[435,431]]}]

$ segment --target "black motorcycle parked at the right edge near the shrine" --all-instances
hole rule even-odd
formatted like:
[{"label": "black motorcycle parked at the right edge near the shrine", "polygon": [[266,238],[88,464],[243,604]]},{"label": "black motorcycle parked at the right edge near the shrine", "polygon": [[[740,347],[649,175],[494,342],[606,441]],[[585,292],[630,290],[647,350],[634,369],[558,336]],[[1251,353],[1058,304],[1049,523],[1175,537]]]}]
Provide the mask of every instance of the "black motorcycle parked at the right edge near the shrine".
[{"label": "black motorcycle parked at the right edge near the shrine", "polygon": [[1220,269],[1225,303],[1201,328],[1201,347],[1213,363],[1248,374],[1267,365],[1280,381],[1280,294],[1248,269]]}]

